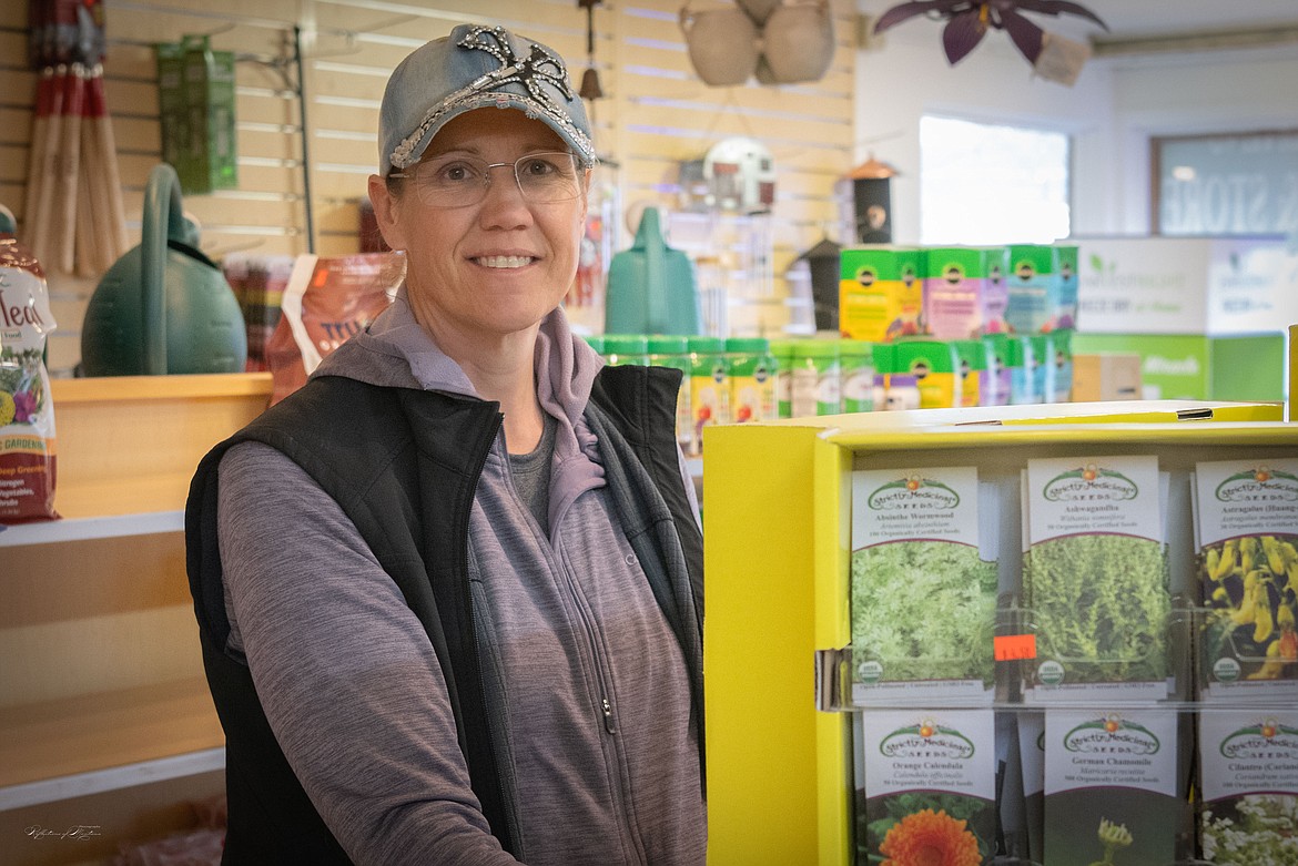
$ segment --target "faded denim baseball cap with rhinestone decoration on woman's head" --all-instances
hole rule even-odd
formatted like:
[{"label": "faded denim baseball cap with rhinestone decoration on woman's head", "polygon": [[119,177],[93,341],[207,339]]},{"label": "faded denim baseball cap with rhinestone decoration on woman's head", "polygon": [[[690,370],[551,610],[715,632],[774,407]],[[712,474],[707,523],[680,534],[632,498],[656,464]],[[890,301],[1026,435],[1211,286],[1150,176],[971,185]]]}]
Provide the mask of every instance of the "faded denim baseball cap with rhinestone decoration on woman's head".
[{"label": "faded denim baseball cap with rhinestone decoration on woman's head", "polygon": [[487,106],[544,121],[583,162],[594,163],[591,123],[563,58],[500,26],[459,25],[392,71],[379,109],[379,174],[419,162],[448,121]]}]

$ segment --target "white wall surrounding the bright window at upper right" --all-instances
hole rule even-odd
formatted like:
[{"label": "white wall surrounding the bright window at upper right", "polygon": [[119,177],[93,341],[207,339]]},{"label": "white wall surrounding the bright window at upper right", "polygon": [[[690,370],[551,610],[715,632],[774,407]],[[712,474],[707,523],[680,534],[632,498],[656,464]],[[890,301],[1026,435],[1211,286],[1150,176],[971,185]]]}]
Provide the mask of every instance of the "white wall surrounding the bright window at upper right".
[{"label": "white wall surrounding the bright window at upper right", "polygon": [[[877,16],[892,3],[861,0]],[[859,49],[857,156],[890,162],[893,239],[919,240],[919,118],[945,114],[1073,136],[1076,233],[1149,231],[1149,136],[1298,128],[1298,47],[1255,52],[1092,58],[1076,84],[1035,78],[999,31],[955,66],[942,25],[923,17]],[[976,170],[976,166],[971,166]],[[970,216],[989,202],[971,202]]]}]

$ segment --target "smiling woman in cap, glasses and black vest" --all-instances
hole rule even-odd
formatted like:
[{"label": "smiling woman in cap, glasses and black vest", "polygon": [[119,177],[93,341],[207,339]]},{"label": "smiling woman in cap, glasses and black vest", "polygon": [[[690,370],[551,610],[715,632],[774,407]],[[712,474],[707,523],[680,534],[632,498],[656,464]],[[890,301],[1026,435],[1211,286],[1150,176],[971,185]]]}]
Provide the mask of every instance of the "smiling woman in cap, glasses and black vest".
[{"label": "smiling woman in cap, glasses and black vest", "polygon": [[392,74],[393,305],[187,509],[238,863],[701,863],[702,541],[678,377],[565,322],[594,159],[562,61]]}]

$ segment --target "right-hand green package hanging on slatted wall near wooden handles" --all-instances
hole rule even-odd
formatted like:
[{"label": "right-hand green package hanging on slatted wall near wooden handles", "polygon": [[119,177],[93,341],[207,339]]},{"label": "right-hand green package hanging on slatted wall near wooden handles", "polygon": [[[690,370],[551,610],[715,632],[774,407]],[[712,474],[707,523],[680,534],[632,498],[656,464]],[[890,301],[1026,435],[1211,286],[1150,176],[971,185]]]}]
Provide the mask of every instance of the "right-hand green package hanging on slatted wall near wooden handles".
[{"label": "right-hand green package hanging on slatted wall near wooden handles", "polygon": [[235,139],[235,54],[213,51],[208,36],[184,38],[184,96],[190,115],[187,193],[239,185]]}]

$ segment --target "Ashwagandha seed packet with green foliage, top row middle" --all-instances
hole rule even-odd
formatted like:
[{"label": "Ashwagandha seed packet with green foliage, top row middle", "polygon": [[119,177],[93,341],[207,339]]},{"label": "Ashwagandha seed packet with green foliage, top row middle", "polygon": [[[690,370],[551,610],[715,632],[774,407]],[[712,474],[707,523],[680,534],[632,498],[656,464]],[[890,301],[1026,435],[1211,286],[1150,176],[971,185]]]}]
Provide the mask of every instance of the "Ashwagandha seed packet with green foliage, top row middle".
[{"label": "Ashwagandha seed packet with green foliage, top row middle", "polygon": [[1028,462],[1029,703],[1167,697],[1167,484],[1153,456]]}]

